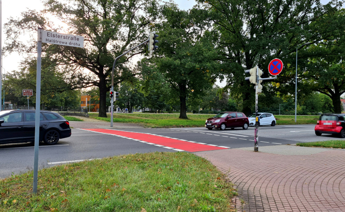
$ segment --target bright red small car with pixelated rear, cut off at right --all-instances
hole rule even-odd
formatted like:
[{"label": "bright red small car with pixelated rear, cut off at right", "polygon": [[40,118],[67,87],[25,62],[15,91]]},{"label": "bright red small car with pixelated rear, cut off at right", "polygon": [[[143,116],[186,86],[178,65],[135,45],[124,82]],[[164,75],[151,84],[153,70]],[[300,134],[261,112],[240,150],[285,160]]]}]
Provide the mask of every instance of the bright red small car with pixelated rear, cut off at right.
[{"label": "bright red small car with pixelated rear, cut off at right", "polygon": [[345,138],[345,114],[322,114],[315,126],[315,134],[333,134]]}]

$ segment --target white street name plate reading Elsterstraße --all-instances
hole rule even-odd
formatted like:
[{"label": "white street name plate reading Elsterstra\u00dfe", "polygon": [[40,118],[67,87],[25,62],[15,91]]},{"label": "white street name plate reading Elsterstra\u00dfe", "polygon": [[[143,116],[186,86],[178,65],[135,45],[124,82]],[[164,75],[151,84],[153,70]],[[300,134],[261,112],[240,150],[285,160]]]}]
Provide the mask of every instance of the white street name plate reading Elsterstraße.
[{"label": "white street name plate reading Elsterstra\u00dfe", "polygon": [[42,42],[64,46],[84,47],[84,37],[42,30]]}]

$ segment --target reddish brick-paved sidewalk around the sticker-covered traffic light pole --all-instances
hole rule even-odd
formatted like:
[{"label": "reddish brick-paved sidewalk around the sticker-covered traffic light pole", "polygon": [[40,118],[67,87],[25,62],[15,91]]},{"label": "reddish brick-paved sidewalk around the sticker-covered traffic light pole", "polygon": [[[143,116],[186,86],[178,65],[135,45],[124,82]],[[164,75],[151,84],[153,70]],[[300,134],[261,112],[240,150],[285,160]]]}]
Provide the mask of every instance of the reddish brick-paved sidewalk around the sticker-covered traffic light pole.
[{"label": "reddish brick-paved sidewalk around the sticker-covered traffic light pole", "polygon": [[238,211],[345,211],[345,150],[277,145],[195,154],[235,184]]}]

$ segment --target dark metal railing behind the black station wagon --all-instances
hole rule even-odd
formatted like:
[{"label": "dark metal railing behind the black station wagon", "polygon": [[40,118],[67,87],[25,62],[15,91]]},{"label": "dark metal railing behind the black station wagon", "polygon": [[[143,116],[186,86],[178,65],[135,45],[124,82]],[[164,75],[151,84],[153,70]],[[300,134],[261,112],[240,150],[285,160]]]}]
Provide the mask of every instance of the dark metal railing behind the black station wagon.
[{"label": "dark metal railing behind the black station wagon", "polygon": [[[34,110],[35,107],[27,106],[27,105],[6,105],[4,106],[3,110],[24,110],[30,109]],[[61,106],[40,106],[40,110],[49,110],[55,112],[66,112],[66,113],[88,113],[87,108],[82,107],[61,107]]]}]

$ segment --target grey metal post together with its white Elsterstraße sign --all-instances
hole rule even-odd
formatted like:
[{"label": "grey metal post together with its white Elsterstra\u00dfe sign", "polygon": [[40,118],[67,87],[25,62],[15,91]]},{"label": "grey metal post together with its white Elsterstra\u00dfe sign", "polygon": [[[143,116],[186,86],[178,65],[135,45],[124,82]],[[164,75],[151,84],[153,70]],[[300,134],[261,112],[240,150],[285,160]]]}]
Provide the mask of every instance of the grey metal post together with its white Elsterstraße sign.
[{"label": "grey metal post together with its white Elsterstra\u00dfe sign", "polygon": [[34,164],[33,164],[33,193],[37,193],[38,178],[38,145],[40,126],[40,102],[41,102],[41,52],[42,42],[64,46],[84,47],[84,37],[79,35],[62,34],[37,29],[37,75],[36,75],[36,112],[35,112],[35,141],[34,141]]}]

